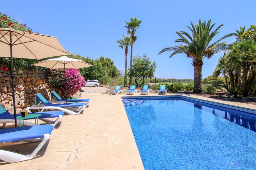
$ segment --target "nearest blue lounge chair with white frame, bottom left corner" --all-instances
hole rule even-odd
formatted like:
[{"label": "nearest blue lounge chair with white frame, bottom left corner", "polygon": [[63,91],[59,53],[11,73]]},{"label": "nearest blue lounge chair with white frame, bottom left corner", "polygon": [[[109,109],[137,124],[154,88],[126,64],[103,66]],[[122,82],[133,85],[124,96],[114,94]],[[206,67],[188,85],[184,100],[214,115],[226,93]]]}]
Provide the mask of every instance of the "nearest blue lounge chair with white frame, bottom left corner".
[{"label": "nearest blue lounge chair with white frame, bottom left corner", "polygon": [[16,142],[19,140],[22,140],[24,142],[41,141],[41,143],[30,155],[22,155],[10,151],[0,150],[0,159],[9,163],[14,163],[35,158],[37,152],[44,146],[45,142],[49,139],[52,129],[52,125],[25,126],[1,129],[0,143]]}]

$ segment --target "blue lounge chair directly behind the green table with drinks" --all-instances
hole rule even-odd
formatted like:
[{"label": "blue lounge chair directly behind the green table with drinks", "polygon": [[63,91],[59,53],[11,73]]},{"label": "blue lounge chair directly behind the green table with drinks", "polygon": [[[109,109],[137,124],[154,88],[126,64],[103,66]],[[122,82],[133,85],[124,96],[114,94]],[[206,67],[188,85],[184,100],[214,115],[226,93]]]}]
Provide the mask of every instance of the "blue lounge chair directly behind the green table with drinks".
[{"label": "blue lounge chair directly behind the green table with drinks", "polygon": [[[31,113],[31,111],[28,109],[28,114]],[[41,114],[41,116],[38,117],[38,119],[44,121],[44,122],[51,122],[53,126],[55,126],[63,116],[63,111],[51,111],[51,112],[38,112]],[[20,116],[21,114],[16,114],[16,116]],[[55,121],[46,119],[46,118],[57,118]],[[34,118],[33,118],[34,119]],[[0,123],[3,123],[2,127],[5,127],[6,123],[14,123],[14,115],[8,112],[5,108],[3,108],[0,105]],[[24,125],[26,126],[32,126],[35,125],[35,123],[24,121]]]}]

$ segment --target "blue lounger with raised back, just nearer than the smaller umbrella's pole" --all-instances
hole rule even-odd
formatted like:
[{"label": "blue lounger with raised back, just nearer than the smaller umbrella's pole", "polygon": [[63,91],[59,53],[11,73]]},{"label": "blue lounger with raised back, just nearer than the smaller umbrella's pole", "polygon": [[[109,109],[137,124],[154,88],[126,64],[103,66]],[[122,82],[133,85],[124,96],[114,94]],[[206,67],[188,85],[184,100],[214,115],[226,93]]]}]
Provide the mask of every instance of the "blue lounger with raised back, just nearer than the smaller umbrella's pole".
[{"label": "blue lounger with raised back, just nearer than the smaller umbrella's pole", "polygon": [[48,109],[54,109],[61,110],[68,114],[79,114],[84,109],[85,105],[86,103],[63,103],[61,101],[48,101],[43,95],[37,93],[35,94],[35,104],[28,107],[28,109],[37,109],[41,112],[44,110],[47,111]]}]

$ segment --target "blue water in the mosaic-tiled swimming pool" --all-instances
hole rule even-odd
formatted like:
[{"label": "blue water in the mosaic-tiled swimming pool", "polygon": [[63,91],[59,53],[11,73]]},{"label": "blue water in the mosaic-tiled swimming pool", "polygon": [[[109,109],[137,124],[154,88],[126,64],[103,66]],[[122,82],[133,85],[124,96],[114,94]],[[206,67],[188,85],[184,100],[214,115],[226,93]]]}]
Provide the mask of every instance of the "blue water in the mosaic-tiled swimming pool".
[{"label": "blue water in the mosaic-tiled swimming pool", "polygon": [[188,99],[123,99],[145,169],[256,169],[256,115]]}]

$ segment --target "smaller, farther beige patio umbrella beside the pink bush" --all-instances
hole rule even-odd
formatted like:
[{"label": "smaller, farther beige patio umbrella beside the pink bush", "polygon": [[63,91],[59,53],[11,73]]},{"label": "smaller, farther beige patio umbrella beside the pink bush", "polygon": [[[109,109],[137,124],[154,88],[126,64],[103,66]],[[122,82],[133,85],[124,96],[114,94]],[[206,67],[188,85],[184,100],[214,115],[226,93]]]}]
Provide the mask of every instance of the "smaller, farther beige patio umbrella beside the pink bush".
[{"label": "smaller, farther beige patio umbrella beside the pink bush", "polygon": [[68,103],[66,69],[80,69],[84,67],[91,67],[93,65],[88,64],[87,62],[84,62],[82,60],[69,58],[67,56],[62,56],[59,58],[52,58],[52,59],[40,61],[38,63],[32,64],[32,66],[46,67],[49,69],[64,69],[66,102]]}]

